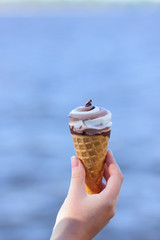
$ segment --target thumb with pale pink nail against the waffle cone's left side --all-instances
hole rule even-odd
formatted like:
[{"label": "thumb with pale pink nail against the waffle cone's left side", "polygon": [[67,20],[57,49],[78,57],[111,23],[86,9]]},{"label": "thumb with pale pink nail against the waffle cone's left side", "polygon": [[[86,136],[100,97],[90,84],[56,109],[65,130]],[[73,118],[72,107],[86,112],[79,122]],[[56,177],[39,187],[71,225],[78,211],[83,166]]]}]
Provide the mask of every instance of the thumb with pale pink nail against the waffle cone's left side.
[{"label": "thumb with pale pink nail against the waffle cone's left side", "polygon": [[82,195],[85,190],[85,169],[77,157],[71,157],[72,177],[69,188],[69,194]]}]

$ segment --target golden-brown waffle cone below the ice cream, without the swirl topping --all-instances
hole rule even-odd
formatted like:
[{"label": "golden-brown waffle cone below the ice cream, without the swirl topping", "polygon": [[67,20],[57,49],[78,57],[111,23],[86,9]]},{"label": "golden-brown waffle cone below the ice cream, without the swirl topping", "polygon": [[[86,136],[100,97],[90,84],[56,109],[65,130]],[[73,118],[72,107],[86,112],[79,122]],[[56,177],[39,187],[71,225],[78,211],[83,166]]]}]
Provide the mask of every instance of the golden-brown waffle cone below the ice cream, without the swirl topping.
[{"label": "golden-brown waffle cone below the ice cream, without the swirl topping", "polygon": [[82,161],[85,170],[85,187],[89,194],[99,193],[107,154],[109,136],[72,135],[77,157]]}]

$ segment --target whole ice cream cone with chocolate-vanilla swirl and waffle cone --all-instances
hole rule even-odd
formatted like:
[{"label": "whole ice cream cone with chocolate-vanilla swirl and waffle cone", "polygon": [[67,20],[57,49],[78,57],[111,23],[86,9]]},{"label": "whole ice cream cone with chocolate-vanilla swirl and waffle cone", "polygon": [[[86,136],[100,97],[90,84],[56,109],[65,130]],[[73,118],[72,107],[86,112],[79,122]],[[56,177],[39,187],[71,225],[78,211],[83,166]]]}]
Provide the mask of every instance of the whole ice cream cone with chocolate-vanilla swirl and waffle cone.
[{"label": "whole ice cream cone with chocolate-vanilla swirl and waffle cone", "polygon": [[70,112],[69,127],[77,157],[86,170],[86,190],[89,194],[95,194],[101,191],[112,123],[111,113],[92,106],[91,102]]}]

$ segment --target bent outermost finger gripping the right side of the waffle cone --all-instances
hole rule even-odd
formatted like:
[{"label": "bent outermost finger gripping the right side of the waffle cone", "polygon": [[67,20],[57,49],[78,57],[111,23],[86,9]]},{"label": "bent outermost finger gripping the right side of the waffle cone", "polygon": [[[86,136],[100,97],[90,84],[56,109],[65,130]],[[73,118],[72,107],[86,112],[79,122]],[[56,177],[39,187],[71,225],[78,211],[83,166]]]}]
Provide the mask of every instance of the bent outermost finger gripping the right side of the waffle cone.
[{"label": "bent outermost finger gripping the right side of the waffle cone", "polygon": [[110,150],[107,153],[106,164],[108,166],[110,177],[108,178],[107,185],[102,193],[114,201],[118,199],[123,182],[123,175]]}]

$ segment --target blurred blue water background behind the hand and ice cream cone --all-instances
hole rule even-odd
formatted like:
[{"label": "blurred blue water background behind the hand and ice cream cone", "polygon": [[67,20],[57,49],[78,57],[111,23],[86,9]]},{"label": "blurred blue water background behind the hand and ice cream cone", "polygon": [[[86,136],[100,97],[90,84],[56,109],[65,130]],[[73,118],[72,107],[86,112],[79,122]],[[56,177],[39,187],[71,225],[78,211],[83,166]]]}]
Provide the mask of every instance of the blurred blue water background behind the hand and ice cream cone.
[{"label": "blurred blue water background behind the hand and ice cream cone", "polygon": [[112,112],[124,174],[96,240],[160,239],[160,5],[0,1],[0,239],[46,240],[70,183],[68,114]]}]

